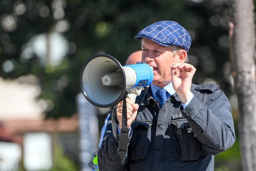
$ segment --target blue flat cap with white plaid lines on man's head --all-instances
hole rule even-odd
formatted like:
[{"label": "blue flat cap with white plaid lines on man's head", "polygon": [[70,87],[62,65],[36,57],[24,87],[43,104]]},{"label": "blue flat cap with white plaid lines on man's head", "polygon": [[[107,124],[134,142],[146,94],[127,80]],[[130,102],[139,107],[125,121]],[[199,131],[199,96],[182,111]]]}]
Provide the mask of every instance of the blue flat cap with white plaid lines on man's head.
[{"label": "blue flat cap with white plaid lines on man's head", "polygon": [[135,39],[147,38],[162,46],[179,46],[188,52],[191,38],[187,30],[174,21],[160,21],[141,30]]}]

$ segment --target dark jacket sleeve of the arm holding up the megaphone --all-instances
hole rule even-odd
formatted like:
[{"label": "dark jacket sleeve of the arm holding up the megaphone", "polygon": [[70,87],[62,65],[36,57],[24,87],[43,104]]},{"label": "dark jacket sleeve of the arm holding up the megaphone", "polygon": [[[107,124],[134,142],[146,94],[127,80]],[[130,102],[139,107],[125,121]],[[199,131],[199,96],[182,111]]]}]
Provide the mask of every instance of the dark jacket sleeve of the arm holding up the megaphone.
[{"label": "dark jacket sleeve of the arm holding up the megaphone", "polygon": [[[106,125],[106,130],[104,133],[104,138],[102,145],[98,152],[98,166],[100,171],[124,171],[126,170],[126,164],[128,162],[128,153],[124,157],[118,154],[118,146],[120,135],[116,133],[117,119],[116,117],[116,107],[113,108],[108,123]],[[112,129],[114,127],[114,129]],[[131,138],[132,132],[130,133],[129,140]]]}]

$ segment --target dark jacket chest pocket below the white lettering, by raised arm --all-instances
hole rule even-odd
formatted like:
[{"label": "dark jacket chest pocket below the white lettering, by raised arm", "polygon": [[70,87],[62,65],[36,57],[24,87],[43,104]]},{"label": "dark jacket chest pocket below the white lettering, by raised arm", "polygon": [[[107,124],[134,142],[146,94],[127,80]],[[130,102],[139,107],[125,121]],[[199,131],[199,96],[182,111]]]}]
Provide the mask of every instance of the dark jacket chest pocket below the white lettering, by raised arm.
[{"label": "dark jacket chest pocket below the white lettering, by raised arm", "polygon": [[202,145],[187,120],[182,118],[171,122],[174,129],[174,156],[182,161],[197,160],[202,152]]}]

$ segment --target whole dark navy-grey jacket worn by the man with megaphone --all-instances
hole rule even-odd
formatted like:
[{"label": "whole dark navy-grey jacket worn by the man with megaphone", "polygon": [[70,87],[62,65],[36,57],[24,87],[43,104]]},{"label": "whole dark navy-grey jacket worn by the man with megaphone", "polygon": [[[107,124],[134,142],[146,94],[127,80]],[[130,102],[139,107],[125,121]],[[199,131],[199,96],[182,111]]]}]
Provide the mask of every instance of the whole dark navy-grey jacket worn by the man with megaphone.
[{"label": "whole dark navy-grey jacket worn by the man with megaphone", "polygon": [[118,123],[114,107],[98,152],[100,170],[213,171],[214,155],[235,141],[231,106],[215,84],[192,84],[191,92],[194,97],[185,109],[176,93],[160,109],[149,89],[131,125],[124,157],[118,155],[120,136],[112,129]]}]

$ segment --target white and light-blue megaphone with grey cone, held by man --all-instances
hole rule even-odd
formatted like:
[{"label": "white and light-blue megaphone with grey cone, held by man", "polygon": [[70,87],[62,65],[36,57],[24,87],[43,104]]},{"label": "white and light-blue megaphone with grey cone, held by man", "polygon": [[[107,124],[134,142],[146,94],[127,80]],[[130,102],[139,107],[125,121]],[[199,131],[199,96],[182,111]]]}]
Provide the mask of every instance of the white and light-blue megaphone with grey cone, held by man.
[{"label": "white and light-blue megaphone with grey cone, held by man", "polygon": [[86,99],[97,107],[116,105],[126,91],[135,101],[143,87],[149,86],[154,78],[152,67],[139,62],[122,66],[108,54],[95,54],[82,66],[80,87]]}]

